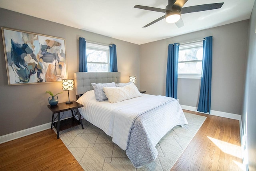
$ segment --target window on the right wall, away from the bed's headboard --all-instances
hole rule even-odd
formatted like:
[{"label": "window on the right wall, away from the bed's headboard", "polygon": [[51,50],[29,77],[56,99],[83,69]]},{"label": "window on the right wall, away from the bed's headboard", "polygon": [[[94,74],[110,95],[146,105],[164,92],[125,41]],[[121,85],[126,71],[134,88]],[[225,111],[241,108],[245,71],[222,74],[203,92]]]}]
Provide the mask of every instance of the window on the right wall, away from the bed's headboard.
[{"label": "window on the right wall, away from the bed's headboard", "polygon": [[201,78],[203,42],[180,45],[178,78]]}]

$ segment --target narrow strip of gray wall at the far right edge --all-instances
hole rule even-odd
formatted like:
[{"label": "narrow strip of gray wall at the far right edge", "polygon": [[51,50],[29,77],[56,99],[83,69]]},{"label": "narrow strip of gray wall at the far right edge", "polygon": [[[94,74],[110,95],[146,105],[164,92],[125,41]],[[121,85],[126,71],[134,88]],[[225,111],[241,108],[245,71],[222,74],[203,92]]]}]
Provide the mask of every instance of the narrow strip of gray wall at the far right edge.
[{"label": "narrow strip of gray wall at the far right edge", "polygon": [[244,131],[248,134],[249,170],[256,171],[256,2],[249,22],[247,58],[242,123],[243,127],[246,127]]}]

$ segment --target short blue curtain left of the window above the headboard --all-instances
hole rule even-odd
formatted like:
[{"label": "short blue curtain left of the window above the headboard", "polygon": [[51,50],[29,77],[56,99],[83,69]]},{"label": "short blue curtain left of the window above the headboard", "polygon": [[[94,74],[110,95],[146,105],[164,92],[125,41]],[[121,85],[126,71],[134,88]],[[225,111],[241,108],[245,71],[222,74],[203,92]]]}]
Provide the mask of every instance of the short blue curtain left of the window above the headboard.
[{"label": "short blue curtain left of the window above the headboard", "polygon": [[79,38],[79,72],[87,72],[86,40]]}]

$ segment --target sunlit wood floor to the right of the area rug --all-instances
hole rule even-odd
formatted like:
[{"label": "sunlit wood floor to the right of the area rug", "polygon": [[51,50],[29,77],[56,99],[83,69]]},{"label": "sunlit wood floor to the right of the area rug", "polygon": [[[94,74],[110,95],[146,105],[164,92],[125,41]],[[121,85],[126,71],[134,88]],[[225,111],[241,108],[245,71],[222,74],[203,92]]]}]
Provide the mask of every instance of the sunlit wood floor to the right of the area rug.
[{"label": "sunlit wood floor to the right of the area rug", "polygon": [[242,165],[239,121],[186,112],[207,118],[171,171],[242,170],[239,167]]}]

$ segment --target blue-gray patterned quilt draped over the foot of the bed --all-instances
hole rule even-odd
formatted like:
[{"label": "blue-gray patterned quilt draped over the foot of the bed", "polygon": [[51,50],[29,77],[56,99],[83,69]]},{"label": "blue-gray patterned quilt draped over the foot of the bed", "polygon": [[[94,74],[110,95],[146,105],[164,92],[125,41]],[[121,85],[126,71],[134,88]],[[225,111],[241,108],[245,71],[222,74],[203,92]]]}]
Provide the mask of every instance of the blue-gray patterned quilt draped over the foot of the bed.
[{"label": "blue-gray patterned quilt draped over the foot of the bed", "polygon": [[158,155],[158,141],[174,126],[186,124],[188,121],[176,99],[139,115],[130,128],[126,148],[134,167],[154,161]]}]

